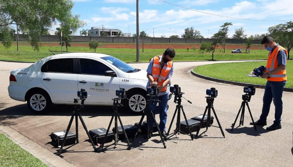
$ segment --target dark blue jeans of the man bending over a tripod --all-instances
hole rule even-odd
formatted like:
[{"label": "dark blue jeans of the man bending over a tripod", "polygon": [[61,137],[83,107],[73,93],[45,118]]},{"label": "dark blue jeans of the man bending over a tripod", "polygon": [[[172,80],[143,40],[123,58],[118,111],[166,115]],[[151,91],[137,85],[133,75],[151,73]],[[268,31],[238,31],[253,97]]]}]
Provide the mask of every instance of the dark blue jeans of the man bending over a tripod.
[{"label": "dark blue jeans of the man bending over a tripod", "polygon": [[[160,131],[166,130],[166,122],[167,122],[167,110],[168,110],[168,100],[169,95],[168,93],[159,97],[155,97],[153,99],[160,100],[159,102],[159,114],[160,114],[160,124],[159,129]],[[152,104],[152,101],[149,104],[149,107],[151,108],[154,115],[156,115],[156,106],[157,102],[154,102]],[[154,125],[154,119],[150,116],[150,132],[153,132],[153,125]]]}]

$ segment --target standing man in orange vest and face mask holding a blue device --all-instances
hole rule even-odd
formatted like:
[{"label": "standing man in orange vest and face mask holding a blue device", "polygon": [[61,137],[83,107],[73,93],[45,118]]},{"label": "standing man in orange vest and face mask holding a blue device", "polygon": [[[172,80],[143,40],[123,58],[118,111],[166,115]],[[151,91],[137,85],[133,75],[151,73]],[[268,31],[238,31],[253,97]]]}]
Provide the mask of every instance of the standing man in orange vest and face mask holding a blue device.
[{"label": "standing man in orange vest and face mask holding a blue device", "polygon": [[[265,36],[261,44],[269,51],[267,66],[262,78],[267,79],[265,93],[263,95],[263,110],[256,125],[267,125],[267,117],[270,112],[272,100],[275,105],[275,121],[267,127],[267,130],[281,129],[281,115],[283,111],[282,94],[287,82],[286,64],[287,50],[277,44],[272,37]],[[252,122],[250,123],[251,125]]]}]

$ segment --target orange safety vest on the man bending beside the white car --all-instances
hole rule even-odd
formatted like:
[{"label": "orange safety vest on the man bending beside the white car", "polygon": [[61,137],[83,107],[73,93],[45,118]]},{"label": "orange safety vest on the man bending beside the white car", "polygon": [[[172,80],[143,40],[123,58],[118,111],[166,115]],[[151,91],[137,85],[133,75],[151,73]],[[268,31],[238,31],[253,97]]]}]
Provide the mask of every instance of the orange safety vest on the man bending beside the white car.
[{"label": "orange safety vest on the man bending beside the white car", "polygon": [[[162,54],[159,56],[162,56]],[[154,61],[153,61],[153,68],[152,68],[152,76],[154,78],[154,81],[158,82],[158,87],[163,85],[164,81],[166,81],[166,78],[168,74],[170,73],[173,66],[173,61],[171,61],[165,64],[164,67],[161,69],[161,62],[159,62],[160,60],[159,56],[156,56],[153,58]],[[159,81],[159,77],[161,77],[161,81]],[[162,92],[165,92],[166,90],[167,90],[167,87],[163,88]]]}]

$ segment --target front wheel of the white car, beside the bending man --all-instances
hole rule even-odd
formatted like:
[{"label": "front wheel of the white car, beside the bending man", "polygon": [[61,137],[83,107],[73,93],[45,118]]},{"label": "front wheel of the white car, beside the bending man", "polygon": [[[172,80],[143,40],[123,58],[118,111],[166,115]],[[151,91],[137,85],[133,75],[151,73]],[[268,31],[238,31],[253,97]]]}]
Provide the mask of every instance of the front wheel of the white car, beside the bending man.
[{"label": "front wheel of the white car, beside the bending man", "polygon": [[142,114],[147,105],[146,94],[142,91],[133,91],[127,95],[125,100],[125,107],[133,114]]}]

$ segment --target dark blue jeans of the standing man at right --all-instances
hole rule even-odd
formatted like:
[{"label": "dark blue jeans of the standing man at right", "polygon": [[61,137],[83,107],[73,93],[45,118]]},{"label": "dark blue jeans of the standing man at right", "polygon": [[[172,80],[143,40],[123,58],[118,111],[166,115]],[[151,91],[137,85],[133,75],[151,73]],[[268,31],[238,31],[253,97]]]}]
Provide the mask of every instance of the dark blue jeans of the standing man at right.
[{"label": "dark blue jeans of the standing man at right", "polygon": [[264,121],[267,120],[267,117],[270,112],[270,106],[273,100],[275,105],[274,123],[280,124],[281,115],[283,112],[282,94],[283,94],[283,88],[285,85],[286,85],[286,81],[282,81],[282,82],[267,81],[267,84],[265,85],[265,93],[263,95],[263,110],[260,115],[260,120],[264,120]]}]

